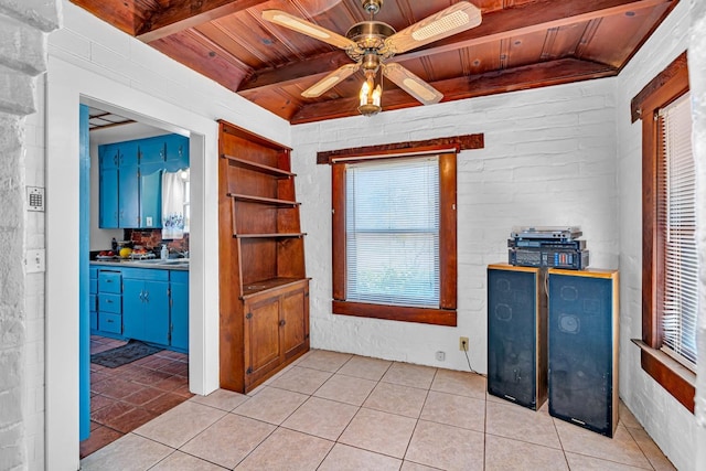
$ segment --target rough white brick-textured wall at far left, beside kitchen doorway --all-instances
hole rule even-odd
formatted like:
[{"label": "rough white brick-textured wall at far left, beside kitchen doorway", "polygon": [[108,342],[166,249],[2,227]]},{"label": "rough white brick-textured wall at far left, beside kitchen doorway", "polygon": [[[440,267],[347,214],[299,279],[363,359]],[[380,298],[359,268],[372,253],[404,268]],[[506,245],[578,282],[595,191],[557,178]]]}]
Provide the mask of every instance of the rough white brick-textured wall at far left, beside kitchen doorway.
[{"label": "rough white brick-textured wall at far left, beside kitchen doorway", "polygon": [[[26,248],[43,248],[43,214],[28,215],[25,185],[43,186],[38,76],[58,2],[0,0],[0,468],[43,469],[41,274],[25,275]],[[41,97],[40,97],[41,98]],[[28,117],[30,116],[30,117]],[[38,142],[39,140],[39,142]],[[38,178],[39,176],[39,178]]]}]

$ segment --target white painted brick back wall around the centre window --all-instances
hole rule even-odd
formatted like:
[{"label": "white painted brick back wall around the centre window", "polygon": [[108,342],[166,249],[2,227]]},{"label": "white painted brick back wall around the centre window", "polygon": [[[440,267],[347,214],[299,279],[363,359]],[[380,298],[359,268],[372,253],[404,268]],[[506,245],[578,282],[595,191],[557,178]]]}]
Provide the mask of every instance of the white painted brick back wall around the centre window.
[{"label": "white painted brick back wall around the centre window", "polygon": [[[292,128],[302,202],[311,340],[315,347],[485,371],[485,267],[506,261],[514,225],[579,225],[591,266],[618,266],[614,81],[389,111]],[[458,328],[331,314],[330,169],[315,153],[375,143],[483,132],[485,148],[458,157]],[[435,352],[447,352],[445,362]]]}]

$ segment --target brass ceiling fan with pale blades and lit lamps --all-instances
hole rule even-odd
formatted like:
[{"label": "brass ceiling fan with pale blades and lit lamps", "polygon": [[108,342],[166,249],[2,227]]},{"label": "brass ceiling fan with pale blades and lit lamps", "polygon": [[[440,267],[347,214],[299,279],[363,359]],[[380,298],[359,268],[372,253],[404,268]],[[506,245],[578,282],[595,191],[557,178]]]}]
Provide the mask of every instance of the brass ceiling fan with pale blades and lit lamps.
[{"label": "brass ceiling fan with pale blades and lit lamps", "polygon": [[321,81],[302,92],[302,96],[314,98],[334,87],[360,68],[365,74],[361,89],[363,115],[379,111],[382,87],[374,87],[375,76],[382,68],[383,74],[398,87],[407,92],[424,105],[439,103],[443,95],[431,85],[397,63],[385,63],[395,54],[400,54],[431,42],[451,36],[481,24],[481,11],[468,1],[459,1],[436,14],[396,32],[382,21],[374,21],[384,0],[361,0],[363,9],[370,13],[370,20],[354,24],[342,36],[318,24],[302,20],[281,10],[265,10],[263,19],[288,28],[310,38],[323,41],[346,52],[354,64],[346,64],[333,71]]}]

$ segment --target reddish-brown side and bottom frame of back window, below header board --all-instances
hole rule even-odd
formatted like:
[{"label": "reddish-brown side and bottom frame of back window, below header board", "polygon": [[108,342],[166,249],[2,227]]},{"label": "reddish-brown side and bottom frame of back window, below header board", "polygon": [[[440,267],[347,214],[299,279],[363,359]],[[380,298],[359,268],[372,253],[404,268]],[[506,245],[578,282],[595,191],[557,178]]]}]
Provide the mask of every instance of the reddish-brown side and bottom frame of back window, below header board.
[{"label": "reddish-brown side and bottom frame of back window, below header board", "polygon": [[[414,154],[418,149],[408,149]],[[427,153],[429,149],[425,148]],[[389,154],[381,158],[395,158]],[[457,161],[456,153],[439,153],[440,178],[440,292],[439,309],[370,304],[346,301],[345,266],[345,163],[331,164],[332,184],[332,263],[334,314],[357,315],[437,325],[457,325]]]}]

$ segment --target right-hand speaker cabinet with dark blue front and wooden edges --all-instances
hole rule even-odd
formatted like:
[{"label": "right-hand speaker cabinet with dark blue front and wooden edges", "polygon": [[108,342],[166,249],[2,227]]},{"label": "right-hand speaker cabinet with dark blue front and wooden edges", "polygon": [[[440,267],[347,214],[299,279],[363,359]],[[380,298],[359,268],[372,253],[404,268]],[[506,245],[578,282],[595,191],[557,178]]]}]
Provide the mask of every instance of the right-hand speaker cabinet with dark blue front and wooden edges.
[{"label": "right-hand speaker cabinet with dark blue front and wooden edges", "polygon": [[618,425],[618,271],[548,270],[549,414],[612,437]]}]

